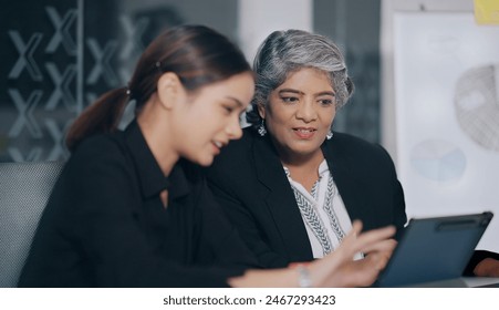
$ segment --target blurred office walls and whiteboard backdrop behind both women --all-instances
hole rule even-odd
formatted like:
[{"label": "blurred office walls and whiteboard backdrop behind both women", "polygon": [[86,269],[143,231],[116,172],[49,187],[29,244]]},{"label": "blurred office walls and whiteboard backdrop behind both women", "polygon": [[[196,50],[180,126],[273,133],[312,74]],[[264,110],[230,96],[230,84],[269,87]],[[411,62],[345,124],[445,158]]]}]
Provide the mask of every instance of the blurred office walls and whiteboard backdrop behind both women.
[{"label": "blurred office walls and whiteboard backdrop behind both women", "polygon": [[[207,24],[251,62],[271,31],[295,28],[344,52],[356,92],[334,128],[389,152],[409,217],[499,217],[498,2],[1,0],[0,162],[66,159],[71,122],[124,87],[165,29]],[[480,247],[499,251],[498,223]]]}]

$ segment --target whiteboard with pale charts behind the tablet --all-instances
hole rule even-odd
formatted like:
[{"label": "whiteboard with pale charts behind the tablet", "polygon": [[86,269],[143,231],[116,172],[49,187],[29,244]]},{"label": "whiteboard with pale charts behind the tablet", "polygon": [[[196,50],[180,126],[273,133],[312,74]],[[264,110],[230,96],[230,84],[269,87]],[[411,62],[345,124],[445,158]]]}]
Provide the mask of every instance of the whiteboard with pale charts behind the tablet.
[{"label": "whiteboard with pale charts behind the tablet", "polygon": [[499,27],[472,12],[393,16],[396,164],[409,217],[491,210],[499,251]]}]

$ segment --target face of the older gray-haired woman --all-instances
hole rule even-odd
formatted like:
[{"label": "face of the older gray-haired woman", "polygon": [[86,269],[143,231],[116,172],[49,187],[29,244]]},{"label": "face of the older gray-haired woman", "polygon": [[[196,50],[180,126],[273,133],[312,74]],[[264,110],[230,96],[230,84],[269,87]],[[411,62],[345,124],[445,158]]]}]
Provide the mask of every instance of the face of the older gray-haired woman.
[{"label": "face of the older gray-haired woman", "polygon": [[303,68],[259,106],[281,157],[318,155],[336,114],[335,92],[325,72]]}]

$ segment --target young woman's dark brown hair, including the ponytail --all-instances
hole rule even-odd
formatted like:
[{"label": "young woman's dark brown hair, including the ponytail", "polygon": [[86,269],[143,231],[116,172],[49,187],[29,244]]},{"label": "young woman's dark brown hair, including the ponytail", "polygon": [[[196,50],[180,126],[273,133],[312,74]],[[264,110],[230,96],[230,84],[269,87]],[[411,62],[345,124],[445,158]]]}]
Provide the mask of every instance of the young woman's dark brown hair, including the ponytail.
[{"label": "young woman's dark brown hair, including the ponytail", "polygon": [[219,32],[205,25],[179,25],[157,37],[144,51],[127,87],[104,93],[72,124],[66,135],[73,152],[87,136],[116,130],[129,100],[135,100],[138,113],[156,92],[164,72],[178,75],[187,91],[251,71],[237,45]]}]

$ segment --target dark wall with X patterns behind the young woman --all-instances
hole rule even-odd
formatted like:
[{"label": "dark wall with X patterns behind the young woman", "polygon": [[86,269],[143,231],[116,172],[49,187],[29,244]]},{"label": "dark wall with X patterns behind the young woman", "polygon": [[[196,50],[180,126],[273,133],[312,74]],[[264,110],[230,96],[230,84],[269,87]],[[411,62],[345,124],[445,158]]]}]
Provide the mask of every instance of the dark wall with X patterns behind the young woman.
[{"label": "dark wall with X patterns behind the young woman", "polygon": [[126,85],[154,37],[204,23],[235,40],[237,10],[232,0],[2,1],[0,162],[67,158],[70,124],[103,92]]}]

